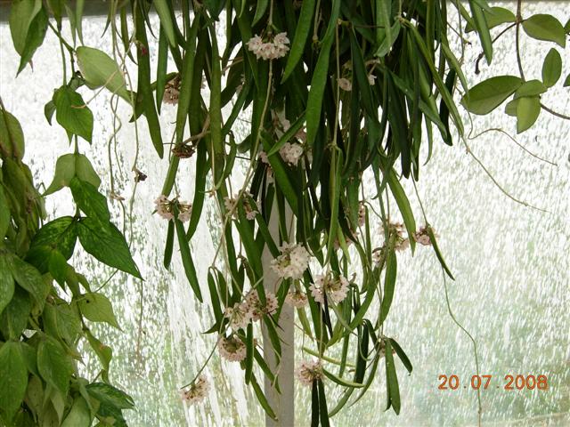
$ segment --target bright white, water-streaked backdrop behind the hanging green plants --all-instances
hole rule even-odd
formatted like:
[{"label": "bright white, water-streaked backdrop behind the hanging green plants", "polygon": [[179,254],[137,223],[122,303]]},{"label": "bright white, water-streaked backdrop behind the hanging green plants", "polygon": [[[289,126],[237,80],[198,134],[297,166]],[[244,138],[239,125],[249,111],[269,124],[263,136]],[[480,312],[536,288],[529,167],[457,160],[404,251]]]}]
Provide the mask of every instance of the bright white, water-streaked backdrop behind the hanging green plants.
[{"label": "bright white, water-streaked backdrop behind the hanging green plants", "polygon": [[[503,5],[503,4],[497,4]],[[512,9],[513,4],[504,4]],[[548,12],[566,20],[567,2],[524,4],[524,11]],[[3,15],[6,12],[2,10]],[[5,15],[4,15],[5,16]],[[562,18],[564,17],[564,18]],[[102,35],[105,20],[89,18],[84,24],[85,40],[93,47],[108,50],[109,32]],[[492,74],[517,74],[513,36],[503,36],[495,47],[493,67],[482,67],[476,76],[476,40],[466,58],[468,80],[474,84]],[[540,78],[542,60],[550,49],[524,37],[524,64],[527,78]],[[566,60],[556,93],[542,102],[551,109],[568,114],[570,96],[562,87],[568,73]],[[56,158],[69,152],[66,135],[58,125],[47,124],[43,114],[54,88],[61,85],[59,44],[48,33],[34,57],[35,72],[27,68],[16,79],[19,58],[10,42],[6,19],[0,23],[0,85],[4,105],[19,118],[26,135],[25,160],[34,179],[48,185]],[[151,61],[156,49],[151,48]],[[84,92],[90,100],[93,93]],[[110,171],[114,191],[125,201],[110,201],[114,219],[126,224],[134,259],[144,281],[102,267],[85,254],[76,254],[74,265],[92,281],[104,286],[110,296],[122,331],[98,326],[102,341],[114,350],[111,379],[128,391],[136,411],[127,419],[132,426],[182,425],[261,425],[263,414],[242,380],[238,364],[223,363],[217,356],[207,369],[215,387],[206,405],[183,407],[177,390],[188,383],[208,358],[215,343],[212,335],[201,334],[213,322],[212,314],[191,294],[182,265],[175,256],[170,270],[162,266],[166,223],[151,215],[152,200],[159,195],[167,160],[157,161],[146,125],[129,124],[126,105],[118,105],[121,123],[113,122],[110,97],[101,93],[90,103],[94,111],[94,142],[80,143],[93,159],[103,178],[103,190],[110,194]],[[162,134],[172,135],[175,109],[163,107]],[[440,236],[439,244],[455,281],[448,280],[449,299],[455,317],[476,339],[481,375],[493,375],[491,386],[481,391],[483,423],[487,425],[568,425],[570,423],[570,270],[568,252],[570,202],[570,163],[568,159],[570,125],[542,111],[540,125],[517,141],[525,149],[557,166],[530,156],[509,138],[496,132],[468,140],[472,152],[493,174],[502,189],[525,202],[547,210],[543,213],[506,197],[501,189],[469,156],[457,139],[452,148],[441,141],[434,156],[423,168],[419,197],[429,222]],[[468,117],[465,123],[469,124]],[[113,129],[120,127],[117,138]],[[515,120],[501,109],[486,117],[474,117],[475,135],[485,129],[501,127],[515,133]],[[136,188],[132,209],[132,230],[124,215],[131,214],[129,201],[134,190],[135,153],[137,167],[148,175]],[[112,165],[112,167],[110,166]],[[177,191],[191,199],[193,162],[183,162]],[[417,221],[419,203],[410,182],[404,188],[411,198]],[[72,214],[69,190],[47,197],[49,218]],[[215,206],[207,200],[205,214],[191,246],[199,260],[209,260],[218,241]],[[379,224],[374,229],[379,233]],[[444,277],[434,253],[418,247],[416,254],[399,254],[399,274],[395,301],[387,319],[385,334],[394,336],[410,357],[414,370],[407,375],[398,367],[402,414],[384,412],[386,384],[383,368],[369,393],[353,407],[333,418],[337,426],[371,425],[476,425],[476,391],[463,388],[476,374],[473,346],[447,312]],[[199,277],[205,278],[209,262],[198,262]],[[110,280],[108,280],[110,278]],[[299,337],[300,338],[300,337]],[[98,362],[85,350],[85,375],[97,372]],[[300,354],[298,357],[302,357]],[[438,390],[439,375],[457,375],[460,387]],[[549,389],[503,389],[505,375],[546,375]],[[497,387],[499,386],[499,387]],[[338,390],[330,389],[330,404]],[[299,425],[309,423],[308,391],[297,387],[296,405]]]}]

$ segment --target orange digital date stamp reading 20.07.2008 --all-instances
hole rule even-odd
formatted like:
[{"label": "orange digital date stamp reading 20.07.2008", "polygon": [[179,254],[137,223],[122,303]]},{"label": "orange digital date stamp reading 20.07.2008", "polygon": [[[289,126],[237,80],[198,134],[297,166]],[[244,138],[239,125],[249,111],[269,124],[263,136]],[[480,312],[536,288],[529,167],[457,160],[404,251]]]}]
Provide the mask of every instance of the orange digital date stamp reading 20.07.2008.
[{"label": "orange digital date stamp reading 20.07.2008", "polygon": [[[498,376],[497,378],[501,378]],[[497,383],[493,375],[472,375],[466,383],[460,381],[458,375],[439,375],[438,390],[548,390],[549,382],[546,375],[505,375],[501,383]]]}]

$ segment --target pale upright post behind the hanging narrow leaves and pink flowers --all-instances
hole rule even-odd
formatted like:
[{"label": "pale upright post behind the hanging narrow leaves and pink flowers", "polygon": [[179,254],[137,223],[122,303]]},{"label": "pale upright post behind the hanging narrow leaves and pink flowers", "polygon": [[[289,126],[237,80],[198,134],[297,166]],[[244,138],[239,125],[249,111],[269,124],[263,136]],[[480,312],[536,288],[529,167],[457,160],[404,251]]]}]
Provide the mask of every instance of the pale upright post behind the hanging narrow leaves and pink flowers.
[{"label": "pale upright post behind the hanging narrow leaves and pink flowers", "polygon": [[[286,223],[290,223],[292,218],[292,213],[289,206],[285,208],[286,212]],[[269,222],[269,231],[273,240],[279,243],[279,218],[276,208],[276,202],[273,203],[273,210],[271,214],[271,219]],[[273,288],[275,284],[279,283],[279,278],[271,269],[271,261],[273,260],[273,255],[269,252],[265,246],[264,253],[262,255],[262,262],[264,266],[264,287],[266,291],[275,292],[276,289]],[[295,390],[294,390],[294,365],[295,365],[295,352],[294,352],[294,326],[293,322],[295,319],[295,312],[292,307],[285,304],[281,309],[281,316],[279,318],[279,326],[277,328],[277,334],[281,339],[281,362],[277,366],[277,361],[275,359],[275,354],[273,352],[273,347],[269,335],[267,334],[265,326],[262,326],[262,332],[264,337],[264,359],[267,365],[270,367],[272,372],[279,375],[279,387],[281,394],[278,393],[273,384],[265,376],[265,396],[269,401],[269,404],[273,408],[275,415],[277,415],[278,421],[275,422],[271,417],[265,415],[265,426],[266,427],[293,427],[295,425]]]}]

